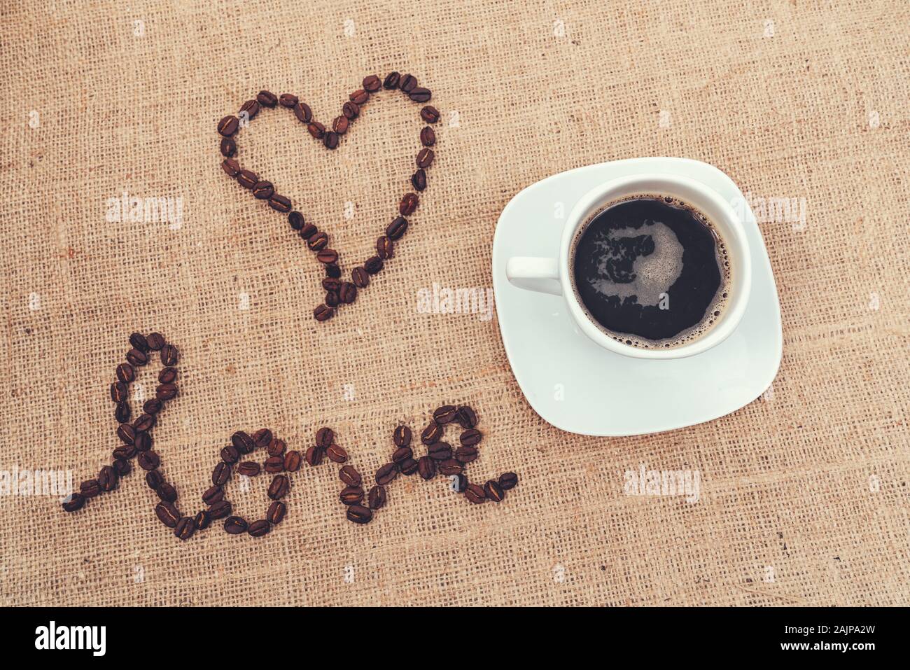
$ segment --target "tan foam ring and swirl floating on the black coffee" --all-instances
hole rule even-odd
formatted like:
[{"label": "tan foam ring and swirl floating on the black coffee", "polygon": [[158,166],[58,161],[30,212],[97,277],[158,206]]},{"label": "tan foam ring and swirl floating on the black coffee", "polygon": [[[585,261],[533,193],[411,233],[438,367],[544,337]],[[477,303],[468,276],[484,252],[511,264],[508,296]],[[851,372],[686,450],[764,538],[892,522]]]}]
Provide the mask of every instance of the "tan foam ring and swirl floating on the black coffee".
[{"label": "tan foam ring and swirl floating on the black coffee", "polygon": [[[714,295],[711,304],[705,310],[705,318],[700,323],[695,324],[692,328],[682,330],[682,332],[675,337],[666,340],[645,340],[643,338],[630,336],[628,333],[619,333],[608,330],[600,321],[594,319],[591,312],[581,300],[578,289],[575,286],[575,252],[581,237],[591,221],[597,218],[606,209],[612,208],[621,202],[642,198],[662,199],[671,207],[686,209],[691,212],[695,218],[701,221],[702,224],[711,231],[714,238],[714,255],[717,259],[718,268],[721,269],[721,286],[717,289],[717,293]],[[620,299],[635,296],[642,306],[658,305],[661,294],[672,286],[672,283],[682,272],[682,253],[684,249],[672,229],[668,228],[660,221],[654,221],[641,228],[620,228],[611,230],[609,237],[611,239],[620,239],[623,237],[633,238],[640,235],[652,236],[654,251],[647,256],[639,256],[639,258],[635,259],[632,266],[635,271],[635,279],[630,283],[616,283],[608,278],[602,278],[592,281],[591,286],[602,295],[615,295]],[[604,269],[607,261],[614,258],[612,255],[613,252],[612,249],[610,249],[609,240],[607,239],[602,240],[602,242],[599,241],[598,246],[602,247],[604,251],[604,256],[599,263],[600,268]],[[636,193],[630,196],[610,200],[600,208],[597,208],[585,220],[584,225],[580,226],[575,232],[575,237],[572,239],[571,243],[570,258],[571,270],[569,274],[571,276],[572,292],[575,294],[575,298],[578,299],[578,303],[581,305],[581,310],[584,311],[585,316],[591,320],[591,323],[593,323],[598,330],[601,330],[602,333],[608,337],[637,349],[673,349],[699,340],[712,330],[714,325],[720,320],[729,301],[732,272],[727,246],[720,235],[720,231],[701,210],[693,207],[693,205],[690,205],[680,198],[653,193]],[[605,272],[602,272],[602,274],[605,274]],[[670,308],[672,309],[672,305]]]}]

